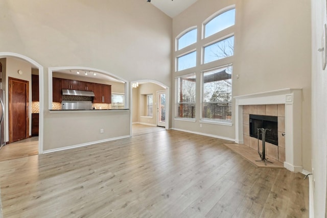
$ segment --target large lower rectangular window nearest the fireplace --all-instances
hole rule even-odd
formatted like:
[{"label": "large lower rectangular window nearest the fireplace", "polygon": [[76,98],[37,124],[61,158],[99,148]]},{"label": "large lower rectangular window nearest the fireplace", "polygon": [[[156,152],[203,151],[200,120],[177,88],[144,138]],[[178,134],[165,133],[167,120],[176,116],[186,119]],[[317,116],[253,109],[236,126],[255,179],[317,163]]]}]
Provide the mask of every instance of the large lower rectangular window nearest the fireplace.
[{"label": "large lower rectangular window nearest the fireplace", "polygon": [[202,119],[231,122],[232,66],[202,72]]}]

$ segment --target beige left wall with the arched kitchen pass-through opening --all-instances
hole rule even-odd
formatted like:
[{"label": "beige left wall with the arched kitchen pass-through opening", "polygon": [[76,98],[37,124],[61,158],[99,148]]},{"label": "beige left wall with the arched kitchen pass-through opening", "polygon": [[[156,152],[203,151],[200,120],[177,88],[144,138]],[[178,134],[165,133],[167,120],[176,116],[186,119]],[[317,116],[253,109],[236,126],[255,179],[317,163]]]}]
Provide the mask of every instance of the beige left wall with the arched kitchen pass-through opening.
[{"label": "beige left wall with the arched kitchen pass-through opening", "polygon": [[[126,136],[130,124],[129,111],[50,112],[49,67],[96,68],[127,81],[171,85],[172,19],[146,1],[3,0],[0,14],[0,28],[6,30],[0,33],[0,50],[44,67],[43,150]],[[107,134],[95,136],[100,127]]]}]

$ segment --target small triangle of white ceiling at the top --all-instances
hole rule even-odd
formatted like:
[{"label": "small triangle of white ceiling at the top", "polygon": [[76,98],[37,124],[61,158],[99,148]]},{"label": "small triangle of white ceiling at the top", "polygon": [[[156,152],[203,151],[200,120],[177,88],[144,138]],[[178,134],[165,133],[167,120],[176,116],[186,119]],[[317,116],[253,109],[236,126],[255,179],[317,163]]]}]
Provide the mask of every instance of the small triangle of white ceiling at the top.
[{"label": "small triangle of white ceiling at the top", "polygon": [[[146,0],[144,0],[146,1]],[[170,17],[175,17],[197,0],[151,0],[151,3]]]}]

